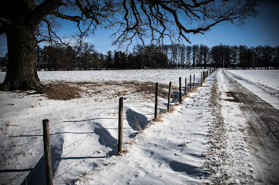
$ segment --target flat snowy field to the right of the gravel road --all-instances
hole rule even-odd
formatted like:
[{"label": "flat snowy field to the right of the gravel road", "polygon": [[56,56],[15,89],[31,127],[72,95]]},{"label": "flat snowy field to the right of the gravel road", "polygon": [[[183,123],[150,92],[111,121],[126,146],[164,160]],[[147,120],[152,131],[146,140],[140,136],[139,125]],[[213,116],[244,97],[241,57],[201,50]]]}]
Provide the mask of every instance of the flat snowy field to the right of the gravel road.
[{"label": "flat snowy field to the right of the gravel road", "polygon": [[279,70],[226,70],[252,93],[279,109]]}]

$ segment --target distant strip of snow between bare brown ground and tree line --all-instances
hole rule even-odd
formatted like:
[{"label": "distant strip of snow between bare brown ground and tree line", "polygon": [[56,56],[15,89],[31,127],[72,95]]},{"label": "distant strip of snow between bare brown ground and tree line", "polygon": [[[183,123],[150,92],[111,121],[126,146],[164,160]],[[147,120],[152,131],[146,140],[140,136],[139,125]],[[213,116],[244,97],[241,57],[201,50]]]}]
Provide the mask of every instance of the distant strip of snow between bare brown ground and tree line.
[{"label": "distant strip of snow between bare brown ground and tree line", "polygon": [[[154,83],[172,83],[179,85],[179,77],[189,78],[195,74],[200,81],[203,69],[195,70],[94,70],[94,71],[39,71],[38,77],[43,83],[52,81],[153,81]],[[6,72],[0,72],[0,83],[5,79]],[[193,78],[193,77],[192,77]]]}]

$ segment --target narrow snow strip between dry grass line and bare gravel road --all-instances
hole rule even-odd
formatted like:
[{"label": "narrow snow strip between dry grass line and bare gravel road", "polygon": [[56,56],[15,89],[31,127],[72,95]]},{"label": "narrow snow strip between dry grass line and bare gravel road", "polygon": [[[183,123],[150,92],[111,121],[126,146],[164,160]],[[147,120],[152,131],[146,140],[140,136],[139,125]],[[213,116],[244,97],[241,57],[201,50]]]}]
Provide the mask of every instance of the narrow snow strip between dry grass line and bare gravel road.
[{"label": "narrow snow strip between dry grass line and bare gravel road", "polygon": [[225,172],[227,177],[221,178],[221,180],[225,184],[255,184],[251,159],[239,129],[239,125],[245,124],[246,118],[241,115],[237,102],[227,101],[229,99],[227,92],[233,91],[233,89],[229,86],[222,71],[219,70],[216,76],[220,93],[220,113],[223,117],[226,138],[226,142],[224,142],[225,159],[220,159],[224,165],[219,170],[221,174]]}]

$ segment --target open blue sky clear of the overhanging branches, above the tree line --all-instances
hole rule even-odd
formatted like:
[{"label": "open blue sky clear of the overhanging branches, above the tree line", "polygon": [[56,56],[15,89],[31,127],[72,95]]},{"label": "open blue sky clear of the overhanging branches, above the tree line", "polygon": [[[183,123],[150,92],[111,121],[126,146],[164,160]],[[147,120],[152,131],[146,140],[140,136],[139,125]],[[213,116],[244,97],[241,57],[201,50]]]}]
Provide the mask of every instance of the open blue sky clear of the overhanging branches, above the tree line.
[{"label": "open blue sky clear of the overhanging branches, above the tree line", "polygon": [[[259,6],[261,11],[256,19],[249,19],[242,28],[229,23],[223,23],[213,27],[211,31],[202,34],[189,34],[188,37],[192,45],[202,44],[209,47],[216,45],[246,45],[256,47],[257,45],[279,45],[279,0],[262,0]],[[59,35],[68,35],[75,28],[75,24],[66,22],[60,29]],[[110,39],[111,32],[97,29],[95,35],[85,41],[95,45],[95,49],[103,54],[107,51],[114,51],[116,46],[112,46]],[[133,42],[136,45],[137,42]],[[141,44],[141,43],[140,43]],[[149,44],[149,43],[146,43]],[[165,43],[168,44],[168,43]],[[185,45],[190,45],[184,42]],[[129,48],[131,49],[131,48]],[[0,35],[0,56],[7,53],[6,36]]]}]

